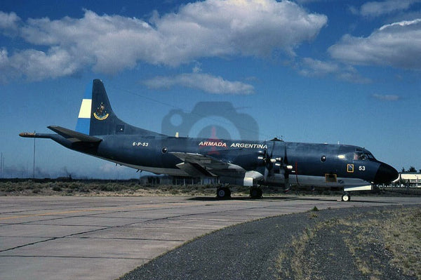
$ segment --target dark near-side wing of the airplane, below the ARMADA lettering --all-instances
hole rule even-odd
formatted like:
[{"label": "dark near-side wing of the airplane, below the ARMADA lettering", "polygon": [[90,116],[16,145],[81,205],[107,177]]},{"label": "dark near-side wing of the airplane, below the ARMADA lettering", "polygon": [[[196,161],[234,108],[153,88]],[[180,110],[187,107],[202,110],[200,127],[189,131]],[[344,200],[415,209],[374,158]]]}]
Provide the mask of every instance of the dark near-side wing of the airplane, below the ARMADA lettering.
[{"label": "dark near-side wing of the airplane, below the ARMADA lettering", "polygon": [[215,159],[213,156],[206,154],[186,152],[171,152],[171,154],[183,161],[181,164],[177,164],[177,167],[192,177],[213,177],[246,172],[241,166]]}]

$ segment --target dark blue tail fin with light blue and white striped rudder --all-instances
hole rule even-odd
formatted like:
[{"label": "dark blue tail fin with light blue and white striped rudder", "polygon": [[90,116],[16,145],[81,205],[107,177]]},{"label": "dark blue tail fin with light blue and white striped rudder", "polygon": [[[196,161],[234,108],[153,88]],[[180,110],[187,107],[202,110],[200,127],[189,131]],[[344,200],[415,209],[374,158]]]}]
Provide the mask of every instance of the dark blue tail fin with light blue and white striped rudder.
[{"label": "dark blue tail fin with light blue and white striped rudder", "polygon": [[76,131],[86,135],[161,135],[121,121],[114,114],[100,79],[93,80],[92,93],[87,90],[83,96]]}]

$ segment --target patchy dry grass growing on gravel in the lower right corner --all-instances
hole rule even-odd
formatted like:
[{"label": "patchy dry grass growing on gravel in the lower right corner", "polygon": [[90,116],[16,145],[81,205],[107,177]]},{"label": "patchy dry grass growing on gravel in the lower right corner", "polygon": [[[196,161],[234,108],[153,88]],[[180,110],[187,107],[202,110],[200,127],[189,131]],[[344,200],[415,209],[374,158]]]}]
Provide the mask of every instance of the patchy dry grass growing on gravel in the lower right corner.
[{"label": "patchy dry grass growing on gravel in the lower right corner", "polygon": [[[276,266],[280,275],[293,274],[295,279],[317,279],[316,271],[312,271],[314,251],[311,241],[320,231],[330,229],[342,234],[343,244],[347,246],[354,265],[362,275],[371,280],[384,278],[382,269],[385,266],[396,267],[406,276],[421,279],[421,208],[399,208],[378,213],[378,218],[364,219],[361,215],[345,219],[331,219],[316,222],[305,229],[300,236],[293,238],[290,244],[292,255],[281,252]],[[314,213],[309,214],[316,218]],[[374,215],[375,216],[375,215]],[[387,218],[383,218],[387,217]],[[375,258],[368,248],[384,248],[385,258]],[[333,256],[332,251],[325,252]],[[288,259],[289,258],[289,259]],[[289,260],[289,265],[287,265]],[[290,269],[291,272],[287,272]]]}]

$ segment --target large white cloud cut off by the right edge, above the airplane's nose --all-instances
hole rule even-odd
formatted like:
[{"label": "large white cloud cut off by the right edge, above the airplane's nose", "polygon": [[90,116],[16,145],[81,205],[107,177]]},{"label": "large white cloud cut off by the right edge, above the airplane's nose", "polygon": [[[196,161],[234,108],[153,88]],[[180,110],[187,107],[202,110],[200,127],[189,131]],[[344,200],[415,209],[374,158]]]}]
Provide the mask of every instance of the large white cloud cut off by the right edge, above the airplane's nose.
[{"label": "large white cloud cut off by the right edge, above the airplane's nose", "polygon": [[353,65],[388,65],[421,69],[421,20],[394,22],[368,37],[349,34],[328,48],[337,60]]}]

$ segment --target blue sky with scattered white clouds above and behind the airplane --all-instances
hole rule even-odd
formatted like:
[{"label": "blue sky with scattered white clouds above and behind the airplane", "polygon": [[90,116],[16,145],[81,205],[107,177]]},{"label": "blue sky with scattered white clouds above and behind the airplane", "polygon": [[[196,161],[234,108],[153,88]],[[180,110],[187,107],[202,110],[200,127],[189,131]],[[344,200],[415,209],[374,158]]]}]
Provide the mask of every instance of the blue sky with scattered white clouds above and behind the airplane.
[{"label": "blue sky with scattered white clouds above and behind the airplane", "polygon": [[[34,141],[18,134],[73,129],[96,78],[121,119],[152,131],[172,110],[230,102],[260,140],[359,145],[420,169],[420,70],[415,0],[1,1],[3,177],[32,176]],[[138,177],[36,140],[36,177],[69,173]]]}]

